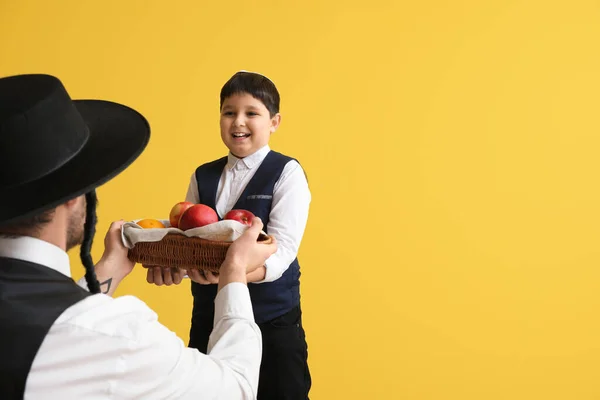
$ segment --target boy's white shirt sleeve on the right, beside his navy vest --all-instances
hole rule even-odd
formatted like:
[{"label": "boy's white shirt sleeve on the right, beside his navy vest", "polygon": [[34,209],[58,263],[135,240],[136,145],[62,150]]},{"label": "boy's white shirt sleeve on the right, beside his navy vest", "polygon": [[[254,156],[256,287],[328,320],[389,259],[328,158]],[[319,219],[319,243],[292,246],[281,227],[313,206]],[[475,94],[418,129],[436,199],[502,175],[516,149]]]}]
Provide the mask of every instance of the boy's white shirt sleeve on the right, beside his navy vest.
[{"label": "boy's white shirt sleeve on the right, beside his navy vest", "polygon": [[267,231],[277,239],[277,251],[265,263],[265,279],[281,277],[297,257],[306,229],[311,193],[304,170],[296,161],[286,164],[273,191],[273,203]]}]

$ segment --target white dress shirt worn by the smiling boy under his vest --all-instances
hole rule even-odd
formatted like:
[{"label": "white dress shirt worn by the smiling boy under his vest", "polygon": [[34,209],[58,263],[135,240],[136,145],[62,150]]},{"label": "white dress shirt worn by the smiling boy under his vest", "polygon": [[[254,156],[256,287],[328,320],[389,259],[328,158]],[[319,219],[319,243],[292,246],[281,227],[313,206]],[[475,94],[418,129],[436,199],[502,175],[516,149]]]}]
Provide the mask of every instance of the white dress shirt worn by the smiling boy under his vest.
[{"label": "white dress shirt worn by the smiling boy under his vest", "polygon": [[[228,155],[227,165],[217,187],[216,211],[221,218],[235,206],[270,150],[267,145],[241,159],[231,153]],[[190,180],[186,201],[200,201],[195,173]],[[277,251],[265,263],[265,279],[255,283],[279,279],[294,261],[306,229],[310,201],[311,194],[304,170],[298,162],[291,160],[285,165],[275,184],[269,223],[266,226],[269,235],[277,239]]]}]

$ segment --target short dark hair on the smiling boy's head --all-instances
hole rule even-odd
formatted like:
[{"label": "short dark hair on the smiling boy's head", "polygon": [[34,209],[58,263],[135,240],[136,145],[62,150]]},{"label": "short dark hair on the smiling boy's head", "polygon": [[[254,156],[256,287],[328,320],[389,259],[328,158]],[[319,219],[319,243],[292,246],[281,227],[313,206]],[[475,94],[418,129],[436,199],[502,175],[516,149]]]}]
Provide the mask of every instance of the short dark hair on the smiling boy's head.
[{"label": "short dark hair on the smiling boy's head", "polygon": [[237,72],[223,85],[219,108],[223,108],[226,98],[241,93],[248,93],[260,100],[271,117],[279,112],[279,92],[275,84],[263,75],[246,71]]}]

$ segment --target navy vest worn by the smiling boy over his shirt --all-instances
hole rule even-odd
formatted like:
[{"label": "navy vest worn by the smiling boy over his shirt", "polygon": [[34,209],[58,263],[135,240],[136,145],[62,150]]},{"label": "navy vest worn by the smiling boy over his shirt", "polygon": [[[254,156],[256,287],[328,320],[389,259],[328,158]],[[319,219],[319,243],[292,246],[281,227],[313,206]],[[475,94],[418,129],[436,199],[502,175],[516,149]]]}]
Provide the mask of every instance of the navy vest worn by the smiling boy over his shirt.
[{"label": "navy vest worn by the smiling boy over his shirt", "polygon": [[[251,211],[264,224],[267,233],[273,189],[279,180],[285,165],[293,160],[283,154],[270,151],[258,170],[242,191],[240,198],[233,207]],[[200,203],[216,210],[217,188],[223,169],[227,165],[227,157],[201,165],[196,169],[198,194]],[[219,216],[219,218],[222,218]],[[283,275],[274,282],[248,284],[254,319],[257,323],[270,321],[290,311],[300,304],[300,265],[296,258],[285,270]],[[194,315],[209,315],[214,313],[214,300],[217,285],[200,285],[192,282],[194,297]]]}]

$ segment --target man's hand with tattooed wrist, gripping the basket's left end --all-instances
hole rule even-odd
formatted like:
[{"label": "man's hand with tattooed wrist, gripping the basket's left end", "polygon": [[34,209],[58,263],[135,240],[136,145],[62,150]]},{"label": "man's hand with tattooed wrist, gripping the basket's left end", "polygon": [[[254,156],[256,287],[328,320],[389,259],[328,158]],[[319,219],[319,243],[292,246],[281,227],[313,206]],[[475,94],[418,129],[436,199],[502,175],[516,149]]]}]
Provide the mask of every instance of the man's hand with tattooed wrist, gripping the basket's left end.
[{"label": "man's hand with tattooed wrist, gripping the basket's left end", "polygon": [[121,240],[123,220],[110,224],[104,238],[104,253],[96,264],[96,276],[102,293],[112,296],[115,289],[131,271],[135,263],[127,258],[128,249]]}]

